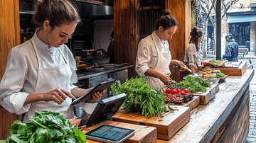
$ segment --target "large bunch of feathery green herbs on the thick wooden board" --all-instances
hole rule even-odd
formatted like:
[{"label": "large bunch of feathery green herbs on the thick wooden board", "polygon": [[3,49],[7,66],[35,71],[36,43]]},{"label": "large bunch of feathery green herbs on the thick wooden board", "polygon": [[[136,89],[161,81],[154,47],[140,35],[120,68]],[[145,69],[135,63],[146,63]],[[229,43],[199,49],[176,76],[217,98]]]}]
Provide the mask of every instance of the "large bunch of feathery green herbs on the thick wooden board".
[{"label": "large bunch of feathery green herbs on the thick wooden board", "polygon": [[115,81],[111,88],[114,95],[127,94],[122,105],[126,110],[135,110],[148,117],[161,115],[162,112],[166,111],[165,96],[158,89],[149,86],[149,82],[144,79],[144,74],[141,74],[140,78],[136,76],[135,79],[127,79],[124,84]]}]

